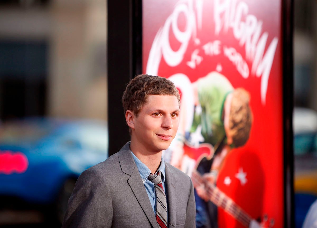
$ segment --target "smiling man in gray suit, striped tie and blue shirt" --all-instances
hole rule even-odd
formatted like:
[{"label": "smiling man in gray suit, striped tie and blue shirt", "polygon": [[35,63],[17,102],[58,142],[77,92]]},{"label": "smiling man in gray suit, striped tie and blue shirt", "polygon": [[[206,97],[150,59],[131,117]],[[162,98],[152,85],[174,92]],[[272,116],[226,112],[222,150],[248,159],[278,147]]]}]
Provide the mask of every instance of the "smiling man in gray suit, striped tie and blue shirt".
[{"label": "smiling man in gray suit, striped tie and blue shirt", "polygon": [[195,227],[191,179],[162,158],[178,129],[178,90],[138,75],[122,103],[131,142],[80,175],[62,227]]}]

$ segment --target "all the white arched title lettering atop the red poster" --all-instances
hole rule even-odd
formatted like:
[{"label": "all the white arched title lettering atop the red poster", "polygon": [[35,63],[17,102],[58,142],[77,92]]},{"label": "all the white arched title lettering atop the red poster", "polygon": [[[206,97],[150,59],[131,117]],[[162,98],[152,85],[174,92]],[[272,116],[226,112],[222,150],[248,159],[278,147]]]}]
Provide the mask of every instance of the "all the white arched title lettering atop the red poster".
[{"label": "all the white arched title lettering atop the red poster", "polygon": [[[237,0],[214,0],[214,22],[215,34],[221,31],[227,32],[232,29],[234,38],[239,41],[239,45],[245,48],[245,60],[243,56],[233,47],[223,47],[223,54],[236,66],[237,71],[244,79],[249,77],[249,67],[246,60],[252,63],[251,72],[257,77],[261,77],[261,100],[265,104],[268,79],[271,72],[278,38],[274,37],[268,41],[268,32],[262,31],[261,20],[249,14],[249,6],[243,1]],[[178,28],[178,18],[182,14],[185,18],[186,27],[184,31]],[[179,1],[171,15],[166,19],[163,27],[157,32],[146,66],[146,73],[158,74],[159,63],[163,57],[167,65],[178,66],[184,60],[188,44],[192,42],[198,46],[197,29],[202,29],[203,0],[183,0]],[[171,33],[171,34],[170,34]],[[173,50],[170,44],[170,35],[179,42],[179,48]],[[269,45],[267,43],[269,42]],[[268,48],[265,51],[265,47]],[[210,41],[200,46],[207,56],[216,56],[221,53],[221,42],[219,40]],[[191,59],[186,60],[187,66],[195,69],[203,56],[198,55],[196,48]]]}]

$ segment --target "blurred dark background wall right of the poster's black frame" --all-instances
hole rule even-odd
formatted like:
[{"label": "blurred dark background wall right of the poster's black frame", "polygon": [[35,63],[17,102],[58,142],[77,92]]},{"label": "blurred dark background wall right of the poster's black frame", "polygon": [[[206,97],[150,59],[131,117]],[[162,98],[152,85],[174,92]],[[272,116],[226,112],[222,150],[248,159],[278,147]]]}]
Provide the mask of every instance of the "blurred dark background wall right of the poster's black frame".
[{"label": "blurred dark background wall right of the poster's black frame", "polygon": [[317,2],[294,0],[295,106],[317,111]]}]

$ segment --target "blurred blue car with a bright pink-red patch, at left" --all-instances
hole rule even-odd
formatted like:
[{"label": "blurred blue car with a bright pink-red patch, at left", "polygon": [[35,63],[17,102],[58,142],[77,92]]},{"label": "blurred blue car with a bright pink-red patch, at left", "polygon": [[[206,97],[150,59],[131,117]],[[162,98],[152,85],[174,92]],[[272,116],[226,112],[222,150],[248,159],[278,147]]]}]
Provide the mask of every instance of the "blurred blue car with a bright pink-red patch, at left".
[{"label": "blurred blue car with a bright pink-red patch, at left", "polygon": [[54,205],[61,222],[75,181],[108,157],[99,121],[25,119],[0,125],[0,196]]}]

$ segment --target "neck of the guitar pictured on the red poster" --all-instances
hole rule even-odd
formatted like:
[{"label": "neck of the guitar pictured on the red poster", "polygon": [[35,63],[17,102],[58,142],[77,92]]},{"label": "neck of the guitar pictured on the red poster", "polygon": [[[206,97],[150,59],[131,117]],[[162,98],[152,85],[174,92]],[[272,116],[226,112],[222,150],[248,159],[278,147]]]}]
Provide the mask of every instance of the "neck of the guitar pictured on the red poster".
[{"label": "neck of the guitar pictured on the red poster", "polygon": [[211,202],[213,202],[218,207],[223,208],[245,227],[249,227],[252,218],[226,194],[221,192],[215,185],[205,181],[196,170],[192,172],[191,180],[193,181],[194,187],[201,186],[202,184],[204,185],[206,193],[208,194],[209,200]]}]

